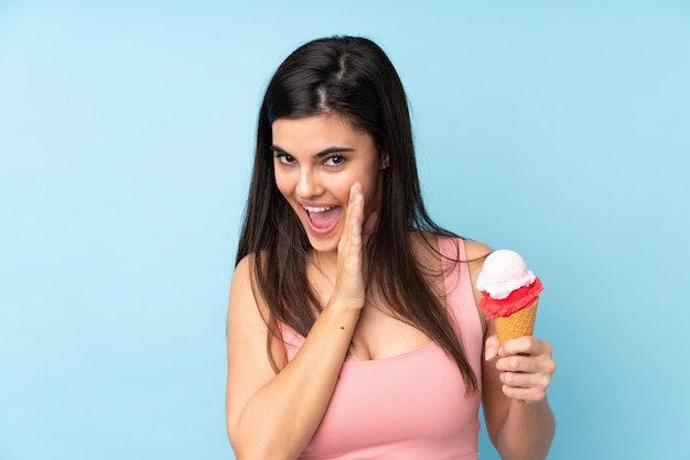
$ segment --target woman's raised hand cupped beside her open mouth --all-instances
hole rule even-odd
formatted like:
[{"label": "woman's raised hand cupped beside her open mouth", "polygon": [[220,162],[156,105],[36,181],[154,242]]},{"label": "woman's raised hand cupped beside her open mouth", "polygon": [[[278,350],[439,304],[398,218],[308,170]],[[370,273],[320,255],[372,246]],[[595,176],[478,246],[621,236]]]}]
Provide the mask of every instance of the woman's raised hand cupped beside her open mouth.
[{"label": "woman's raised hand cupped beside her open mouth", "polygon": [[353,309],[360,309],[366,302],[366,247],[376,220],[376,212],[371,212],[366,223],[364,222],[362,184],[353,184],[345,210],[345,226],[337,247],[337,275],[333,292],[334,296],[341,296],[345,305]]}]

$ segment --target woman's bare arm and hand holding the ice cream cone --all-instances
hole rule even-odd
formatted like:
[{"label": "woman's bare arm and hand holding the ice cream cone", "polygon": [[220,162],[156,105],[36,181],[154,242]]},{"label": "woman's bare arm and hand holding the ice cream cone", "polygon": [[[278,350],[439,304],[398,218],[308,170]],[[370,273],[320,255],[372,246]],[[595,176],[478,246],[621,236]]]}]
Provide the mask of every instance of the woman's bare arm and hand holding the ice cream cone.
[{"label": "woman's bare arm and hand holding the ice cream cone", "polygon": [[[467,242],[466,248],[470,260],[490,252],[476,242]],[[470,264],[473,287],[482,264],[483,260]],[[482,294],[476,287],[474,295],[478,304]],[[484,318],[482,311],[479,315]],[[543,459],[556,429],[546,396],[556,372],[551,346],[535,337],[521,337],[500,347],[493,321],[484,322],[482,401],[488,436],[503,459]]]}]

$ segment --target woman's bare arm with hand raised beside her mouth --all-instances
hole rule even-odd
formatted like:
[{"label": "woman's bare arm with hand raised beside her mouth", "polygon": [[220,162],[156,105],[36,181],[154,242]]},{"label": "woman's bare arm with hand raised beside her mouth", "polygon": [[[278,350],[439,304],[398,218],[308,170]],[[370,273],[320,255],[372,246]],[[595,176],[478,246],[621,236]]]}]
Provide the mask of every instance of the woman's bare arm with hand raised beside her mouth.
[{"label": "woman's bare arm with hand raised beside her mouth", "polygon": [[[362,248],[374,227],[363,229],[360,187],[351,202],[341,243],[334,294],[309,337],[276,374],[267,351],[268,314],[251,289],[249,261],[233,278],[228,307],[227,430],[239,460],[294,459],[304,450],[326,410],[365,302]],[[272,347],[284,355],[280,339]],[[285,360],[287,361],[287,360]]]}]

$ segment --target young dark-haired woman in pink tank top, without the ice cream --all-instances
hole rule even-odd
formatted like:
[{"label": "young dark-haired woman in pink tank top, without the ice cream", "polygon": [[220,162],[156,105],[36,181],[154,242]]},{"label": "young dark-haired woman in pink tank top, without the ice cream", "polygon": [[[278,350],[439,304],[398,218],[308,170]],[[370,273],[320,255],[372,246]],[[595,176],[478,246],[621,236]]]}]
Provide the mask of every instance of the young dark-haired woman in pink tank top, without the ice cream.
[{"label": "young dark-haired woman in pink tank top, without the ice cream", "polygon": [[476,459],[479,403],[503,458],[545,458],[551,347],[499,347],[474,288],[488,253],[427,215],[386,54],[293,52],[259,113],[230,289],[237,458]]}]

